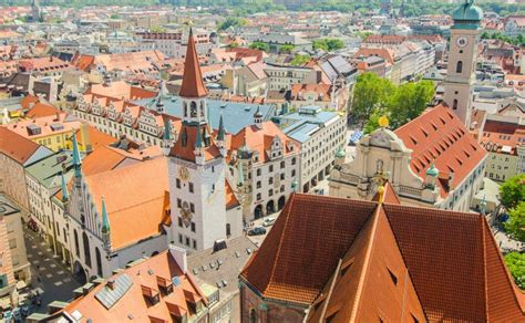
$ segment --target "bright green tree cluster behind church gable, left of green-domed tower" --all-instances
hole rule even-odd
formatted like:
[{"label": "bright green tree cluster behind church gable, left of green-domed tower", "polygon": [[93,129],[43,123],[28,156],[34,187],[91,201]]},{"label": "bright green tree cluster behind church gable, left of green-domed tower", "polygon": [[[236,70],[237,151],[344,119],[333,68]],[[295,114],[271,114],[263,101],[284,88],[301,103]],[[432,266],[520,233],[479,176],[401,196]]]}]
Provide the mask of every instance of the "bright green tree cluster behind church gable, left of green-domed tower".
[{"label": "bright green tree cluster behind church gable, left of green-domed tower", "polygon": [[387,115],[395,129],[423,113],[433,97],[434,84],[430,81],[395,85],[373,73],[363,73],[353,91],[352,122],[370,133],[379,127],[379,118]]}]

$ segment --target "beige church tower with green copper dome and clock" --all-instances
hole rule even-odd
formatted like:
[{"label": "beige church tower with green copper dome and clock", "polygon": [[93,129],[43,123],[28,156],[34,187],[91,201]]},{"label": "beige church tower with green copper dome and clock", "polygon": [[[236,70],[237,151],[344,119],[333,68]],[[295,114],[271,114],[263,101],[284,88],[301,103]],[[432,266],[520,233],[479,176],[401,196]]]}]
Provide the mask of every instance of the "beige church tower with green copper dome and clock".
[{"label": "beige church tower with green copper dome and clock", "polygon": [[471,105],[475,81],[477,42],[483,11],[465,3],[454,12],[449,49],[449,69],[444,82],[444,102],[464,122],[471,124]]}]

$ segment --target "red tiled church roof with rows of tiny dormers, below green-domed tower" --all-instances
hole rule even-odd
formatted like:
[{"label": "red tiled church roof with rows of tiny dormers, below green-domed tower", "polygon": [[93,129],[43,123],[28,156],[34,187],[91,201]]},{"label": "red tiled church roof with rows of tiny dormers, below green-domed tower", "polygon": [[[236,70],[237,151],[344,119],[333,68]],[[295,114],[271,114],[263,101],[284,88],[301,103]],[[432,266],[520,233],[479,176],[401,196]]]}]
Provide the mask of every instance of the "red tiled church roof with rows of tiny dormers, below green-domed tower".
[{"label": "red tiled church roof with rows of tiny dormers, below green-domed tower", "polygon": [[[410,166],[419,177],[424,178],[426,169],[434,163],[440,178],[454,174],[453,186],[462,183],[486,155],[462,121],[442,104],[425,111],[394,133],[412,149]],[[442,197],[447,196],[449,185],[439,180]]]}]

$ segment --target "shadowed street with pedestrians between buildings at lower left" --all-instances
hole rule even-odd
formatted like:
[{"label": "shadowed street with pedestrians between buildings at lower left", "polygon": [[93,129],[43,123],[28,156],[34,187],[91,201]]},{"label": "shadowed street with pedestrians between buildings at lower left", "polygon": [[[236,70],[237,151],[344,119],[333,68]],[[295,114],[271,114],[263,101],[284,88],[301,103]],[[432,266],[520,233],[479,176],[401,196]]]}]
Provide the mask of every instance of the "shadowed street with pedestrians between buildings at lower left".
[{"label": "shadowed street with pedestrians between buildings at lower left", "polygon": [[32,312],[47,312],[47,306],[53,301],[68,302],[73,299],[73,290],[80,283],[53,254],[42,238],[24,228],[25,248],[28,261],[31,264],[32,291],[43,290],[40,308],[33,308]]}]

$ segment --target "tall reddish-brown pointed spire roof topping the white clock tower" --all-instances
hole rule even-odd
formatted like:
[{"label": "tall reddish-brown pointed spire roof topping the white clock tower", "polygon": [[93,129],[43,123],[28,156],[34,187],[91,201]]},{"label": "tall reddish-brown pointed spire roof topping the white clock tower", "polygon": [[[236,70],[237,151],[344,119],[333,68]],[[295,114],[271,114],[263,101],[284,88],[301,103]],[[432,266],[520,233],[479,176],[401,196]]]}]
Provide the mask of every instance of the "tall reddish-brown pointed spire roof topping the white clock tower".
[{"label": "tall reddish-brown pointed spire roof topping the white clock tower", "polygon": [[203,97],[208,94],[203,82],[203,73],[198,64],[198,54],[195,48],[193,30],[189,29],[186,61],[184,63],[183,84],[178,95],[182,97]]}]

